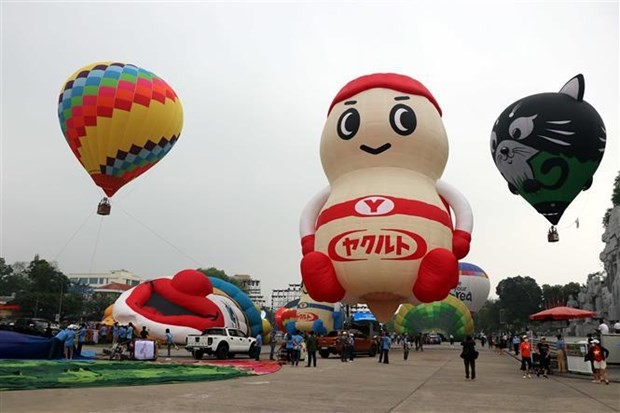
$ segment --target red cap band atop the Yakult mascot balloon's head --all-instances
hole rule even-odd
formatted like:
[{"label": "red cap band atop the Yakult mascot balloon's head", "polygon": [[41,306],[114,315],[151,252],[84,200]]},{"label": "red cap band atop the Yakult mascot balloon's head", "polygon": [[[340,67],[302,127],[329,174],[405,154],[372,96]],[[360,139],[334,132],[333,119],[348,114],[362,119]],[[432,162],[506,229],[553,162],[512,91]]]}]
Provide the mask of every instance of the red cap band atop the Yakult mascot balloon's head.
[{"label": "red cap band atop the Yakult mascot balloon's head", "polygon": [[396,73],[375,73],[372,75],[366,75],[358,77],[347,83],[340,92],[336,95],[332,104],[329,106],[327,115],[332,111],[335,104],[342,102],[345,99],[355,96],[360,92],[374,88],[385,88],[397,90],[403,93],[409,93],[412,95],[424,96],[427,98],[437,109],[441,116],[441,108],[439,103],[435,100],[431,92],[422,83],[409,76],[399,75]]}]

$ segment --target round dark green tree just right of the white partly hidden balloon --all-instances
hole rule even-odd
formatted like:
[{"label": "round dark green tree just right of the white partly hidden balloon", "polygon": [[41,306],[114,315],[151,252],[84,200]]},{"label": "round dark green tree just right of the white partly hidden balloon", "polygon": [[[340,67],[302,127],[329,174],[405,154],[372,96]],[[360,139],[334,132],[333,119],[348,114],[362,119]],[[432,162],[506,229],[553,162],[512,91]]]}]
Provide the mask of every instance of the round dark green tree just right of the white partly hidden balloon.
[{"label": "round dark green tree just right of the white partly hidden balloon", "polygon": [[499,282],[495,293],[499,296],[500,308],[504,310],[508,326],[527,326],[529,315],[540,311],[542,290],[531,277],[511,277]]}]

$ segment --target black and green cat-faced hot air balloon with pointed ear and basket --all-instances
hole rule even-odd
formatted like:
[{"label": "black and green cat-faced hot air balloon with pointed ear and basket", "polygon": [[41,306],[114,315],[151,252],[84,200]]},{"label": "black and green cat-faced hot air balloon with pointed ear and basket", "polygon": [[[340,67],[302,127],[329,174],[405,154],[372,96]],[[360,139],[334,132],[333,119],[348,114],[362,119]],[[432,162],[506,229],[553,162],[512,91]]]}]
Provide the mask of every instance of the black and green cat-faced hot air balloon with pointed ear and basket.
[{"label": "black and green cat-faced hot air balloon with pointed ear and basket", "polygon": [[590,188],[605,152],[605,125],[583,100],[584,88],[579,74],[558,93],[519,99],[499,115],[491,132],[495,166],[510,192],[552,224],[549,242],[559,240],[555,225],[575,197]]}]

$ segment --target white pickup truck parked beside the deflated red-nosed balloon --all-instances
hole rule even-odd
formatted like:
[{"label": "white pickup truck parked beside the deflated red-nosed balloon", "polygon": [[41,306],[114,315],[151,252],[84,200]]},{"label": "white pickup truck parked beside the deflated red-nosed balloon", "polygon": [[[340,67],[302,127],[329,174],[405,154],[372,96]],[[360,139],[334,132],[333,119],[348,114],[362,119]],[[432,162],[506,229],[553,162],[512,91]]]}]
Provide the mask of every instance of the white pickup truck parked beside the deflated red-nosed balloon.
[{"label": "white pickup truck parked beside the deflated red-nosed balloon", "polygon": [[236,328],[214,327],[205,330],[201,335],[188,335],[185,339],[185,350],[192,353],[196,360],[202,359],[204,354],[215,355],[219,360],[232,358],[235,354],[253,357],[256,339]]}]

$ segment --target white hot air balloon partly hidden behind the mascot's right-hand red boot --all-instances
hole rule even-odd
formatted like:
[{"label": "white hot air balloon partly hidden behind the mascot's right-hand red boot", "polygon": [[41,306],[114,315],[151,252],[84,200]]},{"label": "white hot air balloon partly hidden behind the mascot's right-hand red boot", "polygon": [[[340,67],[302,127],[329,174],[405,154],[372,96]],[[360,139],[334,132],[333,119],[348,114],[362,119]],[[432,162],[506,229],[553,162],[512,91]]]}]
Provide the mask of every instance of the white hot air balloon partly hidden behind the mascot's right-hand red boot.
[{"label": "white hot air balloon partly hidden behind the mascot's right-hand red boot", "polygon": [[482,308],[489,297],[491,282],[489,276],[477,265],[459,262],[459,285],[450,291],[461,300],[472,313]]}]

